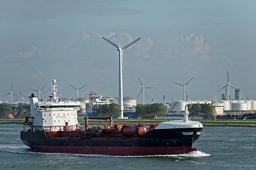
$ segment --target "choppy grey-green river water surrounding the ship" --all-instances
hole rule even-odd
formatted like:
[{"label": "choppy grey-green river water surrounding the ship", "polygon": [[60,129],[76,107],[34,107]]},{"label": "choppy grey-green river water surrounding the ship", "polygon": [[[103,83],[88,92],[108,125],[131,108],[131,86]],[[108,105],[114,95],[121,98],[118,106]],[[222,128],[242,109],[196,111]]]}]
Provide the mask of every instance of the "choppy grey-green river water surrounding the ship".
[{"label": "choppy grey-green river water surrounding the ship", "polygon": [[157,157],[111,157],[33,152],[22,125],[0,124],[0,169],[256,169],[256,128],[204,128],[199,151]]}]

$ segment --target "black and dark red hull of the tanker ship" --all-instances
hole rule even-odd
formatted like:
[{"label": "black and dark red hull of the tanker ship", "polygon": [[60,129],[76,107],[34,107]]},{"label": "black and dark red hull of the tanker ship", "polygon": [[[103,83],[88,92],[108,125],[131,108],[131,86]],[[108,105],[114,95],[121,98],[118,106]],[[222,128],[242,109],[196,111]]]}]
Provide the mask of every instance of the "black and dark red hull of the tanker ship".
[{"label": "black and dark red hull of the tanker ship", "polygon": [[[203,128],[152,130],[141,137],[49,137],[50,132],[21,132],[25,145],[41,152],[145,156],[183,154],[192,147]],[[184,135],[184,132],[185,135]]]}]

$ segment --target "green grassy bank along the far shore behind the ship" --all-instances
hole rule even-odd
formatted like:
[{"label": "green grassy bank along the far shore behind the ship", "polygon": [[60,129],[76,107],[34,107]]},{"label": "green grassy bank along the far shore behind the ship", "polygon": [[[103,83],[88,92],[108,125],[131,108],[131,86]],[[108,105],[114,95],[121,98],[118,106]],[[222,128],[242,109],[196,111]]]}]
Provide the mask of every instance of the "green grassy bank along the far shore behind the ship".
[{"label": "green grassy bank along the far shore behind the ship", "polygon": [[[0,123],[23,123],[25,119],[23,118],[0,118]],[[78,120],[80,124],[85,124],[83,119]],[[114,119],[114,123],[127,123],[127,124],[137,124],[137,123],[161,123],[164,121],[168,121],[167,119]],[[217,119],[217,120],[200,120],[203,123],[203,126],[238,126],[238,127],[255,127],[256,128],[256,120],[241,120],[241,119]],[[90,120],[90,123],[93,124],[105,124],[104,120]]]}]

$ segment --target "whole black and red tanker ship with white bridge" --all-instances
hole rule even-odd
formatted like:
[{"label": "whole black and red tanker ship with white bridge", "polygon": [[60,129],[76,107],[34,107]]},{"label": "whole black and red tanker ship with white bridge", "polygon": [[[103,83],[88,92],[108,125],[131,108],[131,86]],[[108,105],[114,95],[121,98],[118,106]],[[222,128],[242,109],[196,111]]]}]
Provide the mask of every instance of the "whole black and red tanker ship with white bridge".
[{"label": "whole black and red tanker ship with white bridge", "polygon": [[[188,120],[171,120],[158,124],[137,125],[113,123],[112,118],[86,118],[78,125],[80,102],[60,101],[55,79],[50,86],[50,99],[38,101],[31,94],[31,115],[26,116],[21,140],[38,152],[146,156],[183,154],[196,151],[203,125]],[[92,125],[98,119],[104,125]]]}]

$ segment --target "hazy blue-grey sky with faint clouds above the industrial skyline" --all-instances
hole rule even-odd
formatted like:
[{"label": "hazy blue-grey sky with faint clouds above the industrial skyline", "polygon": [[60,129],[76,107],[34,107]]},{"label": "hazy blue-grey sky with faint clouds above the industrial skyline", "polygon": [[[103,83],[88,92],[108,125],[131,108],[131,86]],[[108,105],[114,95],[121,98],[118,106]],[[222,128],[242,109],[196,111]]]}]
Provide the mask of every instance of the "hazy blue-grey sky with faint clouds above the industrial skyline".
[{"label": "hazy blue-grey sky with faint clouds above the industrial skyline", "polygon": [[[246,0],[1,0],[0,101],[11,91],[46,98],[56,79],[59,94],[90,91],[119,96],[117,48],[123,51],[123,93],[142,103],[219,100],[228,84],[256,100],[256,1]],[[138,79],[139,77],[139,79]],[[234,97],[230,89],[230,98]],[[13,96],[13,101],[18,98]]]}]

